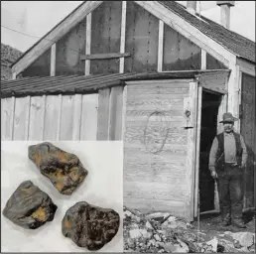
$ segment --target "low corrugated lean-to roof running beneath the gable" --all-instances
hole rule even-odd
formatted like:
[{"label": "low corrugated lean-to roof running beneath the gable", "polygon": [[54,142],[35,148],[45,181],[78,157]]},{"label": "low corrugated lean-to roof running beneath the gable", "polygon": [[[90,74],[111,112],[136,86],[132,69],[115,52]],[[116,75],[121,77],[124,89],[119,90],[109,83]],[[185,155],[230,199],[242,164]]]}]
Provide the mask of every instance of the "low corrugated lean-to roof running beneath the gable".
[{"label": "low corrugated lean-to roof running beneath the gable", "polygon": [[99,89],[118,86],[124,81],[194,78],[202,73],[215,73],[228,70],[182,70],[168,72],[114,73],[97,75],[62,75],[46,77],[25,77],[1,81],[1,97],[41,96],[57,94],[95,93]]}]

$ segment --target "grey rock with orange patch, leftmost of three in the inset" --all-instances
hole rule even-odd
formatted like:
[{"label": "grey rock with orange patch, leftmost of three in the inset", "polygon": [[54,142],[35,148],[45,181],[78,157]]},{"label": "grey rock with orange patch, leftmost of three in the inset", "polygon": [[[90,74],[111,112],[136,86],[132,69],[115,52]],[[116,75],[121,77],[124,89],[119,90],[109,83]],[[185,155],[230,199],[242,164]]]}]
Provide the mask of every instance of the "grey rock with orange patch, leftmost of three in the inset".
[{"label": "grey rock with orange patch, leftmost of three in the inset", "polygon": [[57,208],[46,192],[31,181],[25,181],[8,199],[3,215],[19,226],[36,229],[52,221]]}]

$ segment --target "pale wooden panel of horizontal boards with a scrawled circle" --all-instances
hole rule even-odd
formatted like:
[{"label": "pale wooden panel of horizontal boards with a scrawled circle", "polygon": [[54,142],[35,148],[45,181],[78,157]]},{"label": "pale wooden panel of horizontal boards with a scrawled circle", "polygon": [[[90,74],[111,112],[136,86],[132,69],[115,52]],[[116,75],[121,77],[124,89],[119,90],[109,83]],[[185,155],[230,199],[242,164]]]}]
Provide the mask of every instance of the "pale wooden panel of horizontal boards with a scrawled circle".
[{"label": "pale wooden panel of horizontal boards with a scrawled circle", "polygon": [[[190,80],[129,82],[124,134],[124,203],[142,211],[188,217],[192,172],[188,169],[185,100]],[[149,117],[153,112],[164,115]],[[147,124],[148,123],[148,124]],[[160,154],[167,129],[166,144]]]}]

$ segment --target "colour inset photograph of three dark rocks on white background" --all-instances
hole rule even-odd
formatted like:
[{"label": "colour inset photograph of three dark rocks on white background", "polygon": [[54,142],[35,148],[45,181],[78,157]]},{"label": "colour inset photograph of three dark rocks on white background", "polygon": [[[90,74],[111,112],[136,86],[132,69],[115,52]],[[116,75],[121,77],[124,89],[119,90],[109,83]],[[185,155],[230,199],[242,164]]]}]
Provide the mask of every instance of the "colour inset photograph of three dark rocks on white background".
[{"label": "colour inset photograph of three dark rocks on white background", "polygon": [[122,142],[6,141],[3,252],[123,252]]}]

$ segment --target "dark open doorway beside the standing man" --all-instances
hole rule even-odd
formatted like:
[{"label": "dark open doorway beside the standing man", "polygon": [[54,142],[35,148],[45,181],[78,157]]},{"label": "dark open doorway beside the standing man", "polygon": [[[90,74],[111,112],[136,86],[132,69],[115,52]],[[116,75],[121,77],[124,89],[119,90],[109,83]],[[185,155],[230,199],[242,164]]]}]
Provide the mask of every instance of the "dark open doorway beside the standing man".
[{"label": "dark open doorway beside the standing man", "polygon": [[208,170],[209,151],[217,134],[217,117],[221,95],[202,90],[199,149],[200,212],[214,210],[214,181]]}]

